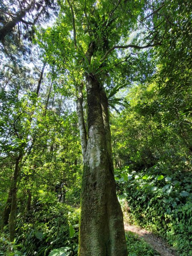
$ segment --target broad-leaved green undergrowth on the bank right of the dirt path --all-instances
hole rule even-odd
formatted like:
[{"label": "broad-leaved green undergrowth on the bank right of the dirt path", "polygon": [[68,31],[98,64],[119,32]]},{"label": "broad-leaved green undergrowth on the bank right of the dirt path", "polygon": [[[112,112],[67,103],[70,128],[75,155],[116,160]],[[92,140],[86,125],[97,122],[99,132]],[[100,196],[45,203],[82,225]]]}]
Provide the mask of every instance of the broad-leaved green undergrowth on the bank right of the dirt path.
[{"label": "broad-leaved green undergrowth on the bank right of the dirt path", "polygon": [[158,233],[180,256],[192,255],[192,173],[175,169],[167,175],[160,167],[117,172],[119,198],[126,199],[124,210],[132,223]]}]

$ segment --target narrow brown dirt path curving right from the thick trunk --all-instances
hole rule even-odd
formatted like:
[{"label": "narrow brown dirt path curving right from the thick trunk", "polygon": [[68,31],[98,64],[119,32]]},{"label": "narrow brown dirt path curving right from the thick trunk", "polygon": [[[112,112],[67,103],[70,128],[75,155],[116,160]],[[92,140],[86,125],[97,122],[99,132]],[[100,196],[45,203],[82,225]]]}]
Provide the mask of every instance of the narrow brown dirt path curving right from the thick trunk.
[{"label": "narrow brown dirt path curving right from the thick trunk", "polygon": [[151,245],[151,247],[154,248],[154,250],[160,253],[161,256],[178,255],[174,248],[169,247],[166,244],[166,241],[145,229],[125,223],[125,232],[126,231],[136,233],[140,238],[143,238],[149,245]]}]

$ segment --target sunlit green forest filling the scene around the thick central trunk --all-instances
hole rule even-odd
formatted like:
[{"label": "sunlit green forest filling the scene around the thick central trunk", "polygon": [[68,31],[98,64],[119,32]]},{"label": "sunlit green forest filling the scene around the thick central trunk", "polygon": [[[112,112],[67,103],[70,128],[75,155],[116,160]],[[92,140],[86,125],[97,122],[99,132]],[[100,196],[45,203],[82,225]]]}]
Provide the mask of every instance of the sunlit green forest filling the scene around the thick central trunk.
[{"label": "sunlit green forest filling the scene around the thick central trunk", "polygon": [[[107,94],[125,221],[192,255],[191,9],[185,0],[0,1],[0,255],[77,255],[84,74]],[[131,233],[126,241],[129,256],[157,255]]]}]

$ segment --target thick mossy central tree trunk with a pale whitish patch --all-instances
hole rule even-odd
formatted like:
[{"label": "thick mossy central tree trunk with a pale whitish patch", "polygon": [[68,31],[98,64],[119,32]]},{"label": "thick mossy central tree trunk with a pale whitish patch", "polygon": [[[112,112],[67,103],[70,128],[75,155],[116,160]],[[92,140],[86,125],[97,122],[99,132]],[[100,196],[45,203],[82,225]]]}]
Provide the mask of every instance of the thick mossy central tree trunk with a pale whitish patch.
[{"label": "thick mossy central tree trunk with a pale whitish patch", "polygon": [[107,99],[101,105],[98,81],[88,75],[86,80],[88,141],[82,178],[79,256],[127,256],[113,175]]}]

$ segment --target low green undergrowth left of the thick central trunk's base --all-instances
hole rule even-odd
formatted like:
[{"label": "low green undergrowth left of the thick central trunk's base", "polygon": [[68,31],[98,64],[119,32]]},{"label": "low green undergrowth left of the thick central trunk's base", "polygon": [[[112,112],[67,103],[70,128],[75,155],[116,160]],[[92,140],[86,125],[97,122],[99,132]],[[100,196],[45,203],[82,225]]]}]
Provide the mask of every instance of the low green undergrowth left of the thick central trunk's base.
[{"label": "low green undergrowth left of the thick central trunk's base", "polygon": [[28,221],[17,216],[14,243],[9,243],[8,234],[1,236],[0,255],[47,256],[53,249],[60,247],[65,248],[66,256],[76,255],[79,214],[79,209],[57,201],[49,207],[39,204],[39,208],[32,212],[30,218],[28,216]]}]

